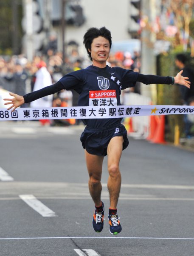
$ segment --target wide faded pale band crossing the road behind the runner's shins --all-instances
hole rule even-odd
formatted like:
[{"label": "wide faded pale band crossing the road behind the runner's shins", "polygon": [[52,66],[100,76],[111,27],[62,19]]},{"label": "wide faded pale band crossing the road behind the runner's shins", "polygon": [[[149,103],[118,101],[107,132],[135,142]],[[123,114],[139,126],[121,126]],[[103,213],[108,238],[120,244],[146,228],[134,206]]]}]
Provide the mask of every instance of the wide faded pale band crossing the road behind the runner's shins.
[{"label": "wide faded pale band crossing the road behind the runner's shins", "polygon": [[[103,188],[105,187],[107,187],[107,185],[105,186],[105,184],[103,184]],[[165,187],[165,193],[162,193],[162,190]],[[124,187],[121,186],[121,188],[122,189],[119,200],[123,201],[194,201],[194,186],[190,185],[179,186],[157,184],[124,184]],[[161,191],[159,195],[157,195],[157,190]],[[176,194],[174,193],[174,191],[176,191]],[[12,181],[10,183],[1,182],[0,201],[20,200],[18,195],[23,194],[32,194],[35,197],[39,198],[39,200],[91,199],[87,183],[18,181]],[[103,189],[102,191],[102,199],[109,200],[109,193],[106,189]]]}]

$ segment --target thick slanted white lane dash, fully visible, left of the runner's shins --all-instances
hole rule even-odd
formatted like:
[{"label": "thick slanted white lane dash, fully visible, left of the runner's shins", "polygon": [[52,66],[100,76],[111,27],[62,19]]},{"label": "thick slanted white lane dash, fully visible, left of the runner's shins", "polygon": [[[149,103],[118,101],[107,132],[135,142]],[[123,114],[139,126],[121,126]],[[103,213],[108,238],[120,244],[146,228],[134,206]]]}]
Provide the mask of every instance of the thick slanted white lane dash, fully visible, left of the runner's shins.
[{"label": "thick slanted white lane dash, fully visible, left of the runner's shins", "polygon": [[54,217],[57,216],[55,212],[42,204],[34,195],[19,195],[19,197],[28,204],[32,209],[38,212],[42,217]]}]

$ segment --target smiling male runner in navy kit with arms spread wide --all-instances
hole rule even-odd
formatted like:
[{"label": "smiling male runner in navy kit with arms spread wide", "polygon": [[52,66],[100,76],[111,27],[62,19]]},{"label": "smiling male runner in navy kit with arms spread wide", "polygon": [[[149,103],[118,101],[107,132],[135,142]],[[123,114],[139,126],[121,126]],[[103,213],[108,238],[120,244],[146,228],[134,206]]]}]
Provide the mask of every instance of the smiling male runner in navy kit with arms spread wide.
[{"label": "smiling male runner in navy kit with arms spread wide", "polygon": [[[79,106],[121,105],[121,90],[135,86],[135,83],[144,84],[182,84],[190,87],[188,78],[181,76],[182,71],[175,77],[142,75],[132,70],[120,67],[108,67],[106,61],[109,57],[112,44],[111,33],[105,27],[90,28],[84,35],[84,45],[92,65],[86,69],[77,70],[62,77],[56,84],[19,96],[5,99],[12,104],[9,109],[13,111],[23,103],[31,102],[43,96],[53,94],[62,89],[74,89],[79,93]],[[102,97],[106,92],[107,97]],[[104,204],[101,201],[101,173],[104,156],[108,157],[109,178],[107,187],[110,194],[109,224],[110,233],[121,232],[121,223],[117,214],[117,203],[121,188],[121,173],[119,162],[122,150],[127,148],[127,131],[121,125],[121,118],[112,119],[84,119],[86,125],[81,135],[81,142],[85,148],[85,159],[89,173],[89,191],[95,203],[93,215],[93,229],[101,232],[104,227]]]}]

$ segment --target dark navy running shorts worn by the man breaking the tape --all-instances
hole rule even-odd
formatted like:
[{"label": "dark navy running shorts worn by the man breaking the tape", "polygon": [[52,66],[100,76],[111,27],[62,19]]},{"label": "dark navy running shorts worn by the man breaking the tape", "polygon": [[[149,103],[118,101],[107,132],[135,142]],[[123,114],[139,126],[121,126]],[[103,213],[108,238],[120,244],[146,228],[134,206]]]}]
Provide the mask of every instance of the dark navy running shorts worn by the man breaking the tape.
[{"label": "dark navy running shorts worn by the man breaking the tape", "polygon": [[115,136],[123,136],[123,150],[127,148],[129,144],[127,130],[124,125],[121,124],[105,128],[89,128],[86,126],[80,140],[83,148],[85,148],[88,153],[106,156],[108,144]]}]

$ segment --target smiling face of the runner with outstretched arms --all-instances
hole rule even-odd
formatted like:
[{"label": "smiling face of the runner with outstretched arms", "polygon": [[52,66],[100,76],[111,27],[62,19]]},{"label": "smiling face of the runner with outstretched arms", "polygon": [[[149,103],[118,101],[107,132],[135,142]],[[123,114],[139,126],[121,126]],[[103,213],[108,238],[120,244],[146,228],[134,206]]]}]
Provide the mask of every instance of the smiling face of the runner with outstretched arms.
[{"label": "smiling face of the runner with outstretched arms", "polygon": [[99,36],[98,38],[94,38],[91,44],[90,52],[93,60],[93,65],[106,66],[107,58],[109,57],[109,52],[110,52],[109,41],[102,36]]}]

